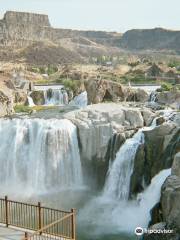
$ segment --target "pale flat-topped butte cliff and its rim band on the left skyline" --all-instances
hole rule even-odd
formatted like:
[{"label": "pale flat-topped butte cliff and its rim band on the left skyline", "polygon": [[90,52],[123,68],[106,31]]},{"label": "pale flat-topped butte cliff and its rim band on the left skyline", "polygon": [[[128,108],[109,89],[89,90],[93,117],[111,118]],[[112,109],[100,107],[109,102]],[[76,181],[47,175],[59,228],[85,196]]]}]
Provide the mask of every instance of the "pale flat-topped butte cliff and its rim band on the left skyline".
[{"label": "pale flat-topped butte cliff and its rim band on the left skyline", "polygon": [[84,37],[97,43],[112,43],[114,33],[57,29],[50,25],[47,15],[8,11],[0,20],[0,43],[28,45],[33,41],[59,42],[63,38]]}]

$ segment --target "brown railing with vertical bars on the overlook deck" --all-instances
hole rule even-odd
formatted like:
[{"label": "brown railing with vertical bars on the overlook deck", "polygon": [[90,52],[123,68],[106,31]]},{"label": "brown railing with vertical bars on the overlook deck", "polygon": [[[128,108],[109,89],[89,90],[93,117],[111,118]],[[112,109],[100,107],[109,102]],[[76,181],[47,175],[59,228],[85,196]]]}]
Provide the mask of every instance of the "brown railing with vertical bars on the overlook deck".
[{"label": "brown railing with vertical bars on the overlook deck", "polygon": [[25,239],[75,240],[75,210],[61,211],[0,198],[0,223],[35,231]]}]

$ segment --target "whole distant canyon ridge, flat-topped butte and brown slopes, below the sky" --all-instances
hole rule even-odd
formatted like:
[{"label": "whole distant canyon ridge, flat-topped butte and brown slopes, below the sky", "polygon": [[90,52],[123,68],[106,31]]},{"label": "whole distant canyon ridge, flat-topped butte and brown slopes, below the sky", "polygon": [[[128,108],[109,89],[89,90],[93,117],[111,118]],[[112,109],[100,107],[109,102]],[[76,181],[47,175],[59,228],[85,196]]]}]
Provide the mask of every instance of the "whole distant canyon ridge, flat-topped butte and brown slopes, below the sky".
[{"label": "whole distant canyon ridge, flat-topped butte and brown slopes, below the sky", "polygon": [[53,28],[47,15],[13,12],[0,20],[0,60],[28,64],[87,62],[128,51],[180,54],[180,31],[161,28],[124,33]]}]

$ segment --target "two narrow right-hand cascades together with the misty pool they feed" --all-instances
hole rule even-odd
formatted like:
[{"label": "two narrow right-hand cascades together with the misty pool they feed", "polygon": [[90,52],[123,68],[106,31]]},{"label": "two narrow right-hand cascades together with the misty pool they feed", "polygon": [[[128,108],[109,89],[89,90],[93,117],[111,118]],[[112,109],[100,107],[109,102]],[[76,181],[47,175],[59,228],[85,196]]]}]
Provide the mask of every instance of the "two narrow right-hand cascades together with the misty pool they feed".
[{"label": "two narrow right-hand cascades together with the misty pool they feed", "polygon": [[109,168],[102,194],[89,201],[80,211],[80,223],[84,227],[91,225],[93,234],[134,233],[136,227],[148,226],[150,210],[159,202],[161,186],[171,170],[163,170],[155,176],[136,200],[128,200],[128,196],[136,151],[144,142],[143,131],[153,129],[155,122],[156,119],[151,127],[139,130],[126,140]]}]

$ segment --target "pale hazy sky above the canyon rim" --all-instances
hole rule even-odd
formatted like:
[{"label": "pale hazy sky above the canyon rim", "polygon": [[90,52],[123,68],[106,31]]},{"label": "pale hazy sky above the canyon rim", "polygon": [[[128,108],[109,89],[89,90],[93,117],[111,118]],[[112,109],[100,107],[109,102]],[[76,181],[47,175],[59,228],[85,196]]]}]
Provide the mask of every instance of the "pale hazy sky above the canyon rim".
[{"label": "pale hazy sky above the canyon rim", "polygon": [[125,32],[134,28],[180,30],[180,0],[0,0],[7,10],[44,13],[58,28]]}]

